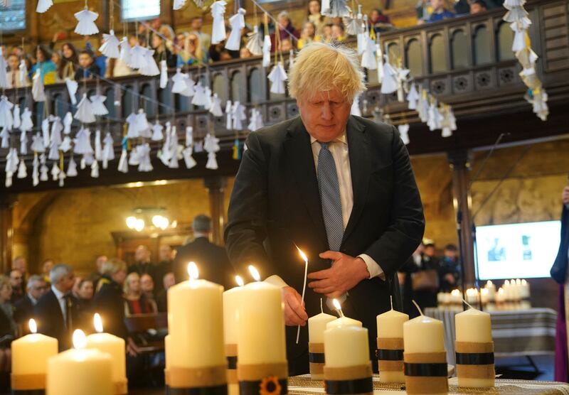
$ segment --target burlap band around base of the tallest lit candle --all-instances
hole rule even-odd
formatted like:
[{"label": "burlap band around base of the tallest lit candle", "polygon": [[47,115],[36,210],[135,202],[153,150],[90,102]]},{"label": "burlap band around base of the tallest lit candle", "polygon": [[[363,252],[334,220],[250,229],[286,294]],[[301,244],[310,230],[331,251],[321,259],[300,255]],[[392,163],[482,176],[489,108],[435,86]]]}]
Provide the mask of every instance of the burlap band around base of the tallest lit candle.
[{"label": "burlap band around base of the tallest lit candle", "polygon": [[212,367],[170,367],[169,382],[172,388],[196,388],[227,384],[225,365]]}]

